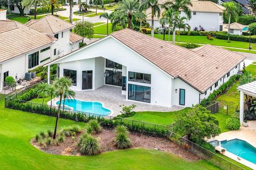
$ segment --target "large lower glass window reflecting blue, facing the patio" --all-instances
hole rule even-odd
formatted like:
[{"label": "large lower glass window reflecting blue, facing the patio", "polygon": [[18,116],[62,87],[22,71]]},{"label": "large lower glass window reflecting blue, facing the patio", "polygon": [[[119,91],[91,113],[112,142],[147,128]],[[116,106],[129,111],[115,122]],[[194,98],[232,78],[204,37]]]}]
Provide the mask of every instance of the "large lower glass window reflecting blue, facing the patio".
[{"label": "large lower glass window reflecting blue, facing the patio", "polygon": [[151,88],[135,84],[128,85],[128,99],[150,103]]}]

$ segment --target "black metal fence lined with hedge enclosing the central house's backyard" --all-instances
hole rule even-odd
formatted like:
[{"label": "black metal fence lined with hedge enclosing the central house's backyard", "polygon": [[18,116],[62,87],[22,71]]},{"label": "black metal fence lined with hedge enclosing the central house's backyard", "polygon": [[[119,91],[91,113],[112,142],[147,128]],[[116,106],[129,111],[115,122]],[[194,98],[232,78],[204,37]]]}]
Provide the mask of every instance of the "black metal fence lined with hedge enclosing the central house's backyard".
[{"label": "black metal fence lined with hedge enclosing the central house's backyard", "polygon": [[[19,95],[24,94],[25,92],[29,91],[31,88],[35,88],[35,86],[36,84],[34,86],[31,86],[25,90],[18,92],[17,94],[5,97],[5,107],[12,108],[12,109],[19,109],[21,111],[27,111],[31,113],[55,116],[58,111],[57,106],[49,106],[49,105],[44,105],[39,103],[33,103],[31,101],[22,101],[17,99]],[[22,107],[20,107],[20,105],[22,105]],[[104,123],[107,126],[111,126],[111,125],[114,126],[115,123],[123,124],[129,130],[134,132],[168,138],[172,142],[179,145],[180,147],[188,150],[189,152],[195,154],[196,156],[202,159],[207,160],[208,162],[212,163],[217,167],[220,167],[221,169],[228,169],[228,170],[244,169],[230,162],[229,160],[219,156],[218,154],[215,154],[207,149],[204,149],[203,147],[197,145],[196,143],[189,141],[186,138],[175,133],[174,124],[165,126],[165,125],[159,125],[154,123],[135,121],[129,118],[106,116],[106,115],[100,115],[100,114],[75,111],[70,108],[65,108],[64,114],[62,113],[60,117],[68,118],[70,120],[79,121],[79,122],[87,122],[90,120],[90,118],[98,118],[99,120],[102,121],[101,123]]]}]

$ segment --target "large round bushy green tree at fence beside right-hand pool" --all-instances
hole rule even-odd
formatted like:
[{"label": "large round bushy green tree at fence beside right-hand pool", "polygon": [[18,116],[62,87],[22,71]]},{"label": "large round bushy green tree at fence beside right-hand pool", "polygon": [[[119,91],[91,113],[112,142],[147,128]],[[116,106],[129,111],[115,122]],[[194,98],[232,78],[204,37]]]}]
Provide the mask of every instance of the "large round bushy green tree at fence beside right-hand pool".
[{"label": "large round bushy green tree at fence beside right-hand pool", "polygon": [[174,130],[187,135],[188,140],[201,143],[204,138],[220,134],[219,121],[205,107],[196,105],[188,112],[181,112],[175,117]]}]

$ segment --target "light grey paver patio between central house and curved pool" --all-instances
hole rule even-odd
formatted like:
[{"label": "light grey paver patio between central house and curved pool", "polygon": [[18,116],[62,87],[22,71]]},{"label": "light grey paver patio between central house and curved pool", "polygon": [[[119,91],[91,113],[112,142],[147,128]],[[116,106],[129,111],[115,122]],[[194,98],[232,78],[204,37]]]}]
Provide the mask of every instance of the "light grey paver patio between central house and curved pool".
[{"label": "light grey paver patio between central house and curved pool", "polygon": [[[104,105],[105,108],[108,108],[112,111],[110,116],[116,116],[120,114],[121,107],[120,105],[131,105],[135,104],[137,107],[134,111],[156,111],[156,112],[171,112],[171,111],[179,111],[184,107],[181,106],[173,106],[173,107],[162,107],[151,105],[147,103],[137,102],[137,101],[128,101],[125,99],[125,95],[122,95],[121,87],[114,86],[102,86],[96,90],[86,90],[86,91],[75,91],[76,99],[84,100],[84,101],[99,101]],[[53,99],[57,101],[58,98]]]}]

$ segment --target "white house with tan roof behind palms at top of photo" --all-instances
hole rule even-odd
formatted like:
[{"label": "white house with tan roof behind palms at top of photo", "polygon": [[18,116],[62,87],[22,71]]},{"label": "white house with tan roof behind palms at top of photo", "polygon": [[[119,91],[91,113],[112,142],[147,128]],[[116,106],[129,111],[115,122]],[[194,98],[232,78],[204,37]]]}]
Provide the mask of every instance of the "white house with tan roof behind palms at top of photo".
[{"label": "white house with tan roof behind palms at top of photo", "polygon": [[[165,0],[159,1],[163,4]],[[205,31],[222,31],[223,12],[225,7],[215,4],[211,1],[191,1],[193,6],[189,6],[191,11],[191,19],[187,21],[191,30],[202,27]],[[162,27],[159,20],[165,10],[161,9],[161,16],[154,17],[154,28]],[[183,11],[180,11],[180,16],[186,16]],[[147,9],[147,22],[151,26],[151,8]]]}]

